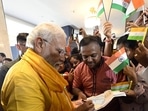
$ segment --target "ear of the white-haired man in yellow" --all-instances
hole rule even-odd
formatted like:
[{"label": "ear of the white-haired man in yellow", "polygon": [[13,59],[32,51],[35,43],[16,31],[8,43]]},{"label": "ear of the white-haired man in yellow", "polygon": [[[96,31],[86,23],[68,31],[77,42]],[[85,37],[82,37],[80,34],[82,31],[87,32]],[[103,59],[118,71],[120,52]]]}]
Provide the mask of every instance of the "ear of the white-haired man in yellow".
[{"label": "ear of the white-haired man in yellow", "polygon": [[42,38],[36,38],[34,41],[34,49],[35,51],[37,51],[38,53],[41,53],[42,50],[44,48],[44,41]]}]

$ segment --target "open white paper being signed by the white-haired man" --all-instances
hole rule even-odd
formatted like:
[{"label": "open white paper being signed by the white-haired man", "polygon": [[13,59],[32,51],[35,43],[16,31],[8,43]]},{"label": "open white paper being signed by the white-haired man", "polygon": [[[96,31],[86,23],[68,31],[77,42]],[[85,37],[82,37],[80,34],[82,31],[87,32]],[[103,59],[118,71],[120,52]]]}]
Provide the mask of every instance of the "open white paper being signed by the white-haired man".
[{"label": "open white paper being signed by the white-haired man", "polygon": [[114,97],[126,96],[125,92],[107,90],[104,93],[87,98],[92,100],[95,105],[95,110],[104,108]]}]

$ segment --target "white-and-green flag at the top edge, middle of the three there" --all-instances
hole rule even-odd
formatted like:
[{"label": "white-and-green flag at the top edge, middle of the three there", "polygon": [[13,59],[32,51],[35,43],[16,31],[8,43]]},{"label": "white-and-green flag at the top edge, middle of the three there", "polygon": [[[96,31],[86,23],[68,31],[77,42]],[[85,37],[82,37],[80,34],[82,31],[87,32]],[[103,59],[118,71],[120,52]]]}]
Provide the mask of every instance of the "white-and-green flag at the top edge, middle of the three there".
[{"label": "white-and-green flag at the top edge, middle of the three there", "polygon": [[127,7],[131,0],[113,0],[111,8],[120,10],[123,13],[126,13]]}]

